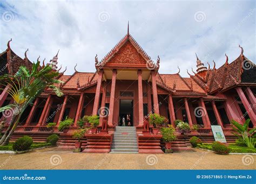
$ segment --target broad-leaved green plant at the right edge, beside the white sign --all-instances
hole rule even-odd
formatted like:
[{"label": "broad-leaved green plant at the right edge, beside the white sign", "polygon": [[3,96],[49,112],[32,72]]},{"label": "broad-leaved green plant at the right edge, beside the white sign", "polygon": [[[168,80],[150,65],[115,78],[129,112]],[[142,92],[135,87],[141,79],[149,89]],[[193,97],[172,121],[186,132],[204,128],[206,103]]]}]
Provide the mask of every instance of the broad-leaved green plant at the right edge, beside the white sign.
[{"label": "broad-leaved green plant at the right edge, beside the white sign", "polygon": [[248,131],[248,126],[250,123],[251,119],[246,119],[245,123],[243,125],[239,124],[238,122],[232,120],[231,124],[233,125],[232,128],[235,132],[233,133],[235,136],[237,136],[239,139],[242,139],[244,143],[247,145],[249,148],[254,148],[256,141],[254,139],[254,134],[256,129],[252,129]]}]

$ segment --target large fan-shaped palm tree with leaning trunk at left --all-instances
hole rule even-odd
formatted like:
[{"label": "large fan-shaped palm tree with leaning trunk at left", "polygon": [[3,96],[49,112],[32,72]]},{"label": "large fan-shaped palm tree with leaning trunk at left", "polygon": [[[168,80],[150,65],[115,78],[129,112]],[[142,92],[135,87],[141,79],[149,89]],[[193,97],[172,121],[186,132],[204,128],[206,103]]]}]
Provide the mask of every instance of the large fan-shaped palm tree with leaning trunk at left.
[{"label": "large fan-shaped palm tree with leaning trunk at left", "polygon": [[33,63],[31,71],[25,66],[21,66],[15,75],[5,74],[0,77],[0,82],[4,86],[10,86],[7,93],[14,99],[14,103],[0,108],[0,112],[9,110],[13,114],[10,125],[0,140],[1,145],[9,144],[9,140],[18,125],[22,113],[28,105],[32,105],[35,98],[45,88],[51,88],[57,96],[63,95],[59,87],[54,85],[56,83],[63,83],[56,79],[58,75],[59,73],[53,70],[51,65],[41,68],[38,61]]}]

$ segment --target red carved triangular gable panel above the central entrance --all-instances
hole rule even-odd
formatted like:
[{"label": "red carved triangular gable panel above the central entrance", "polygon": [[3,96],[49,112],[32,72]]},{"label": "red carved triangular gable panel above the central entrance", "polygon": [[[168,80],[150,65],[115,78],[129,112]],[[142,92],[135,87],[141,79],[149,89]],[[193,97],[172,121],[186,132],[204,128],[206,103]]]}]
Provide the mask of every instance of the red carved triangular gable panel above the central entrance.
[{"label": "red carved triangular gable panel above the central entrance", "polygon": [[127,40],[119,51],[112,56],[106,63],[106,66],[117,65],[142,65],[145,67],[146,60],[138,53],[137,49],[132,45],[130,40]]}]

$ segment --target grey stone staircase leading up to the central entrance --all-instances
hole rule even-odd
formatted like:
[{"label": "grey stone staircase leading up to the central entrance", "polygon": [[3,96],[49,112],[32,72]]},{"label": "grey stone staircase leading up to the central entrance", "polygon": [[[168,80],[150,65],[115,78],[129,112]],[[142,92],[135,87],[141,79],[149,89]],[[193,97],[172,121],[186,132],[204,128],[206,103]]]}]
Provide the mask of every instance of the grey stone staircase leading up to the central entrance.
[{"label": "grey stone staircase leading up to the central entrance", "polygon": [[136,127],[116,126],[111,153],[138,153]]}]

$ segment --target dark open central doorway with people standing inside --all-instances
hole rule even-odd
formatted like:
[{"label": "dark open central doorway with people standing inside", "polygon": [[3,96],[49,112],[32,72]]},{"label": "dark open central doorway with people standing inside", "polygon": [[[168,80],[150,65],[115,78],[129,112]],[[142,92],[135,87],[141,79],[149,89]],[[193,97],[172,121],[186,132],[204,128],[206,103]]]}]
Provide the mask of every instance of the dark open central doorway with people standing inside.
[{"label": "dark open central doorway with people standing inside", "polygon": [[133,100],[120,100],[119,126],[133,126]]}]

